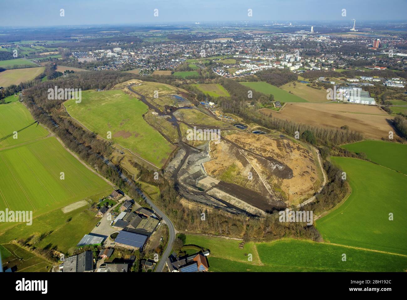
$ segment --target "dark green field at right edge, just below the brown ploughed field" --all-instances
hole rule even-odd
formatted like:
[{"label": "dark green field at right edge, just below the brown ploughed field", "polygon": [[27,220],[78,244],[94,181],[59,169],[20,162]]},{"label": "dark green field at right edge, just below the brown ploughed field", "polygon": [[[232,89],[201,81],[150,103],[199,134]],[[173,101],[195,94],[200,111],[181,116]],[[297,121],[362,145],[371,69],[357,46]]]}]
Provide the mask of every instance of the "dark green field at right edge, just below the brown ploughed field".
[{"label": "dark green field at right edge, just below the brown ploughed field", "polygon": [[372,162],[407,175],[407,144],[365,140],[342,147],[356,153],[364,152]]}]

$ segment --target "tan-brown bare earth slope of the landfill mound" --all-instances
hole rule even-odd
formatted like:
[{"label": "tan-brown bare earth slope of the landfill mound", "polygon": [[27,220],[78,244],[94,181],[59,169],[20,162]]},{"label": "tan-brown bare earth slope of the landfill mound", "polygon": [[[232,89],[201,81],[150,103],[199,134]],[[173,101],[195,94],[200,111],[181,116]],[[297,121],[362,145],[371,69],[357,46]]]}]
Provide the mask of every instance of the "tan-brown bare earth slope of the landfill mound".
[{"label": "tan-brown bare earth slope of the landfill mound", "polygon": [[300,203],[321,183],[312,152],[291,140],[235,132],[219,144],[211,142],[209,154],[204,168],[209,176],[220,180],[218,186],[253,191],[245,200],[252,198],[249,204],[266,211]]}]

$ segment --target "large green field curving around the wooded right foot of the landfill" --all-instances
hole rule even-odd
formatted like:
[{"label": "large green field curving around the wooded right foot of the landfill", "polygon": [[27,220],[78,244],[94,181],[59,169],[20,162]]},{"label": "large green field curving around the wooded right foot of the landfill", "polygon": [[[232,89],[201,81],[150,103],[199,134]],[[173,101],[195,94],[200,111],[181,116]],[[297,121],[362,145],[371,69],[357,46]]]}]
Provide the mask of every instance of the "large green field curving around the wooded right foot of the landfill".
[{"label": "large green field curving around the wooded right foot of the landfill", "polygon": [[[372,162],[333,157],[352,188],[340,207],[316,221],[325,241],[407,254],[407,176]],[[389,220],[389,213],[394,220]]]}]

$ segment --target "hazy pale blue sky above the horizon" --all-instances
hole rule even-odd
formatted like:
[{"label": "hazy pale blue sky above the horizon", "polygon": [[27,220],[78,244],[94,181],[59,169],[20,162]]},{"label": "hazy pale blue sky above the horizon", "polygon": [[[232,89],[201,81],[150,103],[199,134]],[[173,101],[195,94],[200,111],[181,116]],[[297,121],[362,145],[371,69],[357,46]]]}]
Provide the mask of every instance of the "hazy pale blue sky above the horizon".
[{"label": "hazy pale blue sky above the horizon", "polygon": [[0,26],[406,20],[406,11],[407,0],[0,0]]}]

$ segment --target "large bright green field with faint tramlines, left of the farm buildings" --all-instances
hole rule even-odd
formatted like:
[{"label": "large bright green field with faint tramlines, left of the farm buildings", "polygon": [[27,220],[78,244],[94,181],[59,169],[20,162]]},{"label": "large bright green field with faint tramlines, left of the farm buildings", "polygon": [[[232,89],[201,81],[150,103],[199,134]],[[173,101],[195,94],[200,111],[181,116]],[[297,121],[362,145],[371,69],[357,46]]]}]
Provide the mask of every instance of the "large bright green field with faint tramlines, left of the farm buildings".
[{"label": "large bright green field with faint tramlines, left of the farm buildings", "polygon": [[0,210],[28,210],[35,217],[109,190],[54,137],[0,151]]}]

